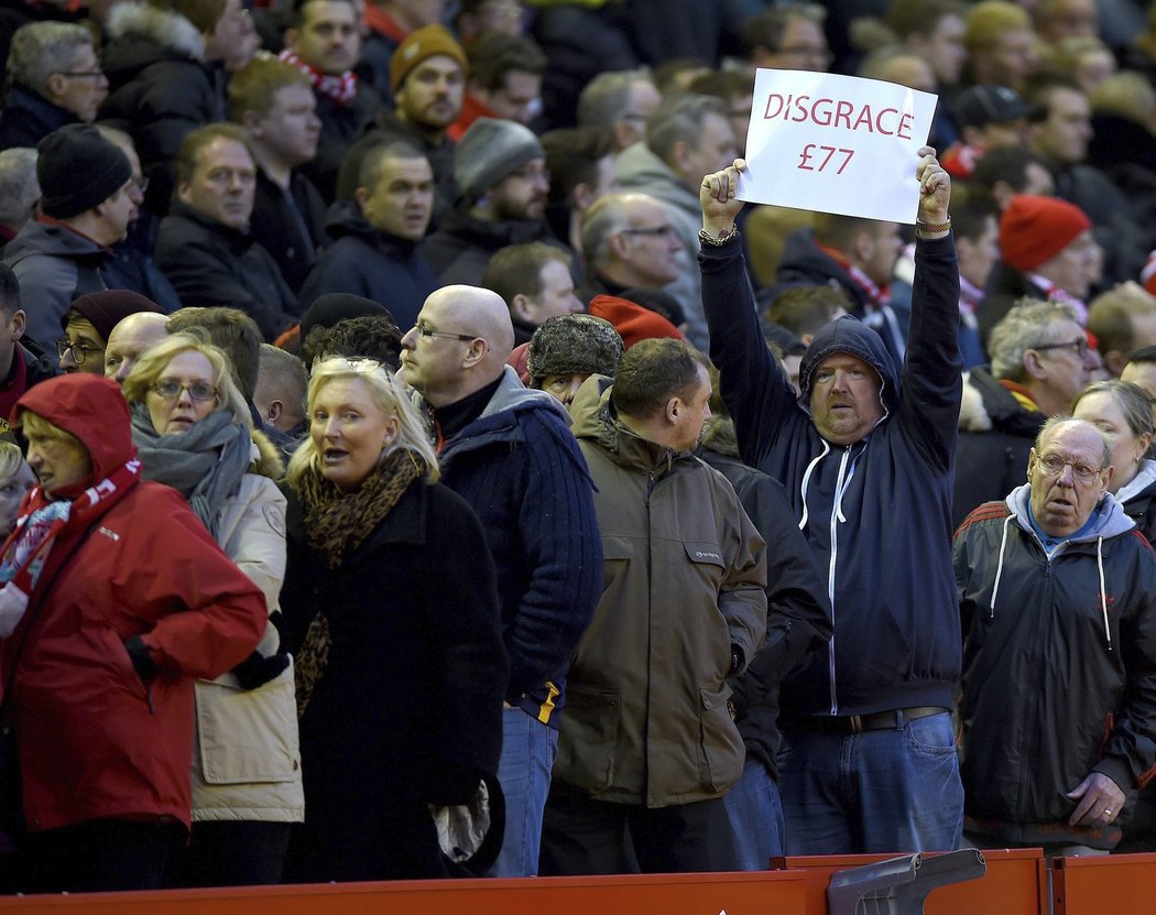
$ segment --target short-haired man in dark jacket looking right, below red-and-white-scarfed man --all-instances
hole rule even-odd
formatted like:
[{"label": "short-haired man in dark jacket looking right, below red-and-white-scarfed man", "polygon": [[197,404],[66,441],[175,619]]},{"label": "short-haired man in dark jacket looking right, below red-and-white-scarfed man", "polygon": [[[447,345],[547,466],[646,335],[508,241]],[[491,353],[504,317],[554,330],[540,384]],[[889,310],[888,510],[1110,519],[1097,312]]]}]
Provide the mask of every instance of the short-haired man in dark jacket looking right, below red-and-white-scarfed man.
[{"label": "short-haired man in dark jacket looking right, below red-and-white-scarfed man", "polygon": [[245,128],[257,160],[249,234],[294,293],[325,241],[325,201],[299,169],[317,155],[316,112],[309,78],[279,60],[254,60],[229,81],[229,119]]}]

